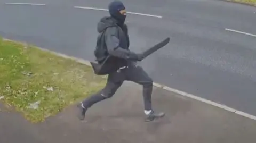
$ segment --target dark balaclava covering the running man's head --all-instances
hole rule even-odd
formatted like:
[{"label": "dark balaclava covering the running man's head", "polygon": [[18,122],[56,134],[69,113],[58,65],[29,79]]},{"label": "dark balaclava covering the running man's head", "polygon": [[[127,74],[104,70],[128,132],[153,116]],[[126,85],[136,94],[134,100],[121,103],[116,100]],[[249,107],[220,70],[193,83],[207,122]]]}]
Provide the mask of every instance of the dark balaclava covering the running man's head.
[{"label": "dark balaclava covering the running man's head", "polygon": [[116,19],[120,26],[123,26],[126,18],[126,15],[120,13],[120,11],[124,9],[124,4],[121,1],[113,1],[108,5],[108,11],[110,16]]}]

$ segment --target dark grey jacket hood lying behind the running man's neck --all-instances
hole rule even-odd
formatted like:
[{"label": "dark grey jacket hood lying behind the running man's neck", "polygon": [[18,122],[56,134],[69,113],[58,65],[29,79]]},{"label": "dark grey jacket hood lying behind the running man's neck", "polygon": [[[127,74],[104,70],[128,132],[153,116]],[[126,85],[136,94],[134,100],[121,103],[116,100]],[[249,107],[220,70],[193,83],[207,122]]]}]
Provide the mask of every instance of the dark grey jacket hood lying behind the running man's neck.
[{"label": "dark grey jacket hood lying behind the running man's neck", "polygon": [[103,17],[97,24],[97,31],[101,33],[108,27],[113,27],[117,25],[117,21],[111,17]]}]

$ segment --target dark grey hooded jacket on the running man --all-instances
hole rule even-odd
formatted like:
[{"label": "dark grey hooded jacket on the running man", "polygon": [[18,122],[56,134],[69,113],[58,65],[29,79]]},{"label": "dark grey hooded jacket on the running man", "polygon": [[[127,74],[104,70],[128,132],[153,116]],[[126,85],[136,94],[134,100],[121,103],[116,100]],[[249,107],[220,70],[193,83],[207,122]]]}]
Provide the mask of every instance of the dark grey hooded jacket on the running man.
[{"label": "dark grey hooded jacket on the running man", "polygon": [[[126,66],[130,60],[137,60],[137,54],[129,50],[130,41],[126,24],[120,27],[114,18],[104,17],[99,21],[97,30],[101,33],[97,40],[97,46],[105,46],[106,49],[105,55],[97,57],[98,61],[109,55],[111,58],[109,64],[114,64],[116,69]],[[100,38],[101,36],[103,37]]]}]

